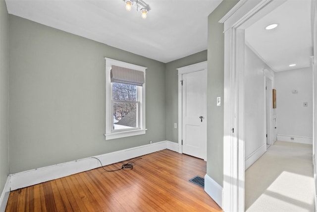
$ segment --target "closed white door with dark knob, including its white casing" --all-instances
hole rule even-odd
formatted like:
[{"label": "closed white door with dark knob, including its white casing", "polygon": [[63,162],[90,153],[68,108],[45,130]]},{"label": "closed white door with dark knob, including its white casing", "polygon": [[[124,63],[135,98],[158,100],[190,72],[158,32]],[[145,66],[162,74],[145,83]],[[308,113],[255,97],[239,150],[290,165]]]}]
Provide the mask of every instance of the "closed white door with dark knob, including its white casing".
[{"label": "closed white door with dark knob, including its white casing", "polygon": [[179,153],[207,159],[207,62],[178,70]]}]

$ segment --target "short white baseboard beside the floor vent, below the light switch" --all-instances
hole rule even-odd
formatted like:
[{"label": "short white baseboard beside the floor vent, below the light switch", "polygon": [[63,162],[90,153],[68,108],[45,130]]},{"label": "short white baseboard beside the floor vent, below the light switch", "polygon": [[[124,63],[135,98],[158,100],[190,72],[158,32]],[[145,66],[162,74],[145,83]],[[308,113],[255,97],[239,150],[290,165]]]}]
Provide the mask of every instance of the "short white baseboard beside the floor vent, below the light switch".
[{"label": "short white baseboard beside the floor vent, below the light switch", "polygon": [[223,188],[207,174],[205,175],[205,192],[222,208]]}]

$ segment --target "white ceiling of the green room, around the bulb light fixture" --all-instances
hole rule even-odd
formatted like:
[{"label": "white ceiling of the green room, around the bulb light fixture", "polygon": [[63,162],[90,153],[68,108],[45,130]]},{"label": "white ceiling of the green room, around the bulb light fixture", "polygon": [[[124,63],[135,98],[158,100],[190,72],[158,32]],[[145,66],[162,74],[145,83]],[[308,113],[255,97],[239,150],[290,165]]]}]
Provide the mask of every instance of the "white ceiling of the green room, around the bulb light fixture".
[{"label": "white ceiling of the green room, around the bulb light fixture", "polygon": [[208,15],[221,0],[145,0],[147,19],[123,0],[5,0],[14,14],[167,63],[207,49]]}]

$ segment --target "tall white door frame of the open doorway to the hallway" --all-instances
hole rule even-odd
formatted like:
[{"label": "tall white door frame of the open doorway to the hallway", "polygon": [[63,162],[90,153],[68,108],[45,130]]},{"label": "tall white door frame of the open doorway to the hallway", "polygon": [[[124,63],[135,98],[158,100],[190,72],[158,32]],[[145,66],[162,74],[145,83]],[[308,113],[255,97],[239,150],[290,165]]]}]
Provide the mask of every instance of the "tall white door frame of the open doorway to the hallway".
[{"label": "tall white door frame of the open doorway to the hallway", "polygon": [[226,212],[244,212],[244,30],[283,2],[240,0],[219,21],[224,23],[222,205]]}]

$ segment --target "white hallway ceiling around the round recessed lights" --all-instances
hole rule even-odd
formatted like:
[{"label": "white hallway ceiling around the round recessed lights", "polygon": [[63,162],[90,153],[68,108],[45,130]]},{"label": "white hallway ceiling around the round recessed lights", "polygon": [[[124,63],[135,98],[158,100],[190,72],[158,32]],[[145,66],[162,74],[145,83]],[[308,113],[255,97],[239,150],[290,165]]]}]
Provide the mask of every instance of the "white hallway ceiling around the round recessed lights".
[{"label": "white hallway ceiling around the round recessed lights", "polygon": [[[265,27],[279,25],[272,30]],[[313,55],[311,0],[288,0],[246,29],[247,45],[273,71],[310,66]],[[296,64],[295,67],[289,67]]]}]

